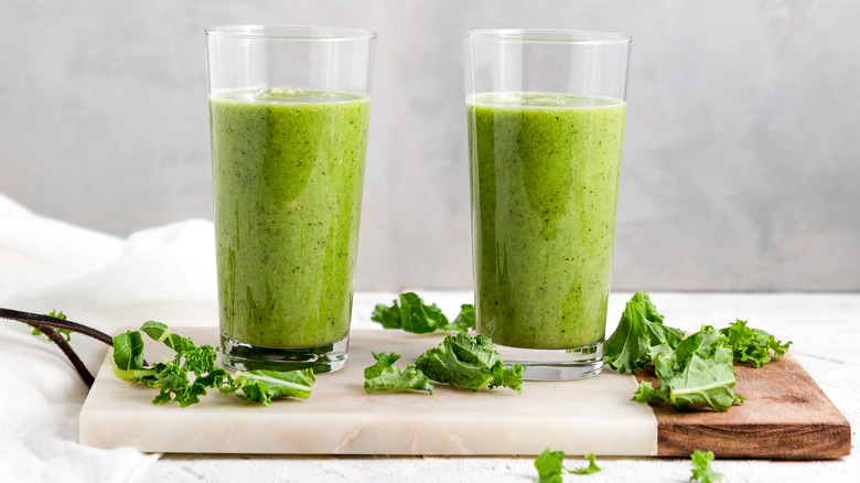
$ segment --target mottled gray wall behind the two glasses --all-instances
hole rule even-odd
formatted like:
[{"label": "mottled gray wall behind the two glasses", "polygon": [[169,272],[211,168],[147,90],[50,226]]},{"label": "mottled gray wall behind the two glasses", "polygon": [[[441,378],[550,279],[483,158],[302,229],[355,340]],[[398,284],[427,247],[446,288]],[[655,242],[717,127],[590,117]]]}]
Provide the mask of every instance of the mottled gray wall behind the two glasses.
[{"label": "mottled gray wall behind the two glasses", "polygon": [[461,32],[634,37],[614,289],[860,290],[860,2],[2,0],[0,192],[209,218],[203,28],[379,34],[357,286],[471,287]]}]

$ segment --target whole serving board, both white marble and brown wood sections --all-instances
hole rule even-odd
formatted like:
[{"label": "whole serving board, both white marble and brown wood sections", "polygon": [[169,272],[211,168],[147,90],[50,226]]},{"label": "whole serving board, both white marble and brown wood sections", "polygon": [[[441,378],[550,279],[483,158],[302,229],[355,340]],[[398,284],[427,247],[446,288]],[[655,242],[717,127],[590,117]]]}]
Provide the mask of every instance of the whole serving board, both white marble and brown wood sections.
[{"label": "whole serving board, both white marble and brown wood sections", "polygon": [[[217,343],[215,329],[176,332]],[[344,369],[319,375],[310,399],[276,400],[268,408],[217,394],[187,408],[153,406],[155,391],[117,379],[106,358],[80,411],[80,443],[270,454],[536,455],[551,448],[687,457],[706,449],[719,458],[828,459],[851,451],[848,420],[791,353],[762,368],[735,364],[735,389],[748,400],[727,412],[632,402],[637,380],[648,375],[610,369],[584,380],[525,382],[522,395],[443,384],[434,384],[432,396],[364,393],[370,351],[401,354],[402,367],[442,337],[353,331]],[[161,344],[147,345],[149,361],[168,353]]]}]

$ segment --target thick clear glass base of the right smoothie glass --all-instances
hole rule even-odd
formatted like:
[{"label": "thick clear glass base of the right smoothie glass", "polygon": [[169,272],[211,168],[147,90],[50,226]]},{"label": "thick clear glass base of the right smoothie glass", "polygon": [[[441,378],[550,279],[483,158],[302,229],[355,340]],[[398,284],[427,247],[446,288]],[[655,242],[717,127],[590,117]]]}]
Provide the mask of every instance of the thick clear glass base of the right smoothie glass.
[{"label": "thick clear glass base of the right smoothie glass", "polygon": [[572,380],[600,374],[603,368],[603,341],[576,348],[523,348],[493,344],[507,365],[525,368],[526,380]]}]

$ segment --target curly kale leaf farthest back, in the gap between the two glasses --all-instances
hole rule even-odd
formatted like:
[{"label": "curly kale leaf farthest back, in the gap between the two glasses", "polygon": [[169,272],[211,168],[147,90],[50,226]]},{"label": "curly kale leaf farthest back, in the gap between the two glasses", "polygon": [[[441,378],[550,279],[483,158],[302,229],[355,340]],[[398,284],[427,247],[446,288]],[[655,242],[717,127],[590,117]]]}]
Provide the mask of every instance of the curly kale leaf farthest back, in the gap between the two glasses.
[{"label": "curly kale leaf farthest back, in the gap between the two glasses", "polygon": [[453,322],[449,322],[441,309],[426,304],[412,292],[401,293],[391,305],[377,304],[370,320],[379,322],[385,329],[401,329],[415,334],[428,334],[436,331],[469,332],[475,328],[475,307],[463,304]]}]

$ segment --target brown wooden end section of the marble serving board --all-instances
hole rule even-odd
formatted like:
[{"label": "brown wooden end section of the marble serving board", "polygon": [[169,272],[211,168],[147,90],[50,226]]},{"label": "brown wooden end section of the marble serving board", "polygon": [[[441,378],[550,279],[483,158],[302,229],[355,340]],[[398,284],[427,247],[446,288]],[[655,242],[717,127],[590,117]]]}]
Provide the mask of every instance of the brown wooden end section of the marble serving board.
[{"label": "brown wooden end section of the marble serving board", "polygon": [[[700,450],[718,458],[817,460],[850,454],[850,423],[794,356],[759,368],[735,364],[734,372],[735,391],[748,399],[725,412],[652,405],[657,455],[688,458]],[[636,380],[656,377],[637,374]]]}]

